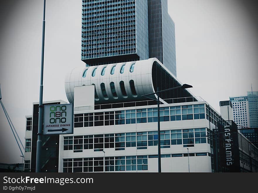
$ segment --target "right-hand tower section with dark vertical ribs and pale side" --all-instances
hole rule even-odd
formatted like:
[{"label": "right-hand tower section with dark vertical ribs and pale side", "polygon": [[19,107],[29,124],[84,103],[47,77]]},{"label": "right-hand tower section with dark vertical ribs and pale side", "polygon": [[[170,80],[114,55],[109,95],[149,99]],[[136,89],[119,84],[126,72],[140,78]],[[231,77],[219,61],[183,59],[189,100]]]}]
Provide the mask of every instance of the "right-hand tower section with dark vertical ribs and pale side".
[{"label": "right-hand tower section with dark vertical ribs and pale side", "polygon": [[168,14],[167,0],[148,0],[149,53],[176,76],[175,23]]}]

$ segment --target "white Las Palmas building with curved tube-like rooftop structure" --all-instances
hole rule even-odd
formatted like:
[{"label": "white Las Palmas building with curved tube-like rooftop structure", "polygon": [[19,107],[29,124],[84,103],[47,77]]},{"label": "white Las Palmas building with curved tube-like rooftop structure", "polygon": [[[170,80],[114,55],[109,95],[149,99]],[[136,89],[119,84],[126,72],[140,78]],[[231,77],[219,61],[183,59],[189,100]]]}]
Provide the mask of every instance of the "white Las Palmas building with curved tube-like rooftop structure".
[{"label": "white Las Palmas building with curved tube-like rooftop structure", "polygon": [[[157,172],[157,102],[142,95],[156,92],[157,87],[165,90],[180,85],[156,58],[72,70],[65,90],[74,104],[74,133],[44,136],[41,171]],[[162,92],[160,98],[162,172],[258,170],[257,148],[206,101],[183,88]],[[25,165],[30,171],[35,168],[37,141],[33,133],[37,132],[38,107],[34,105],[26,131],[30,143],[26,143]],[[229,144],[221,135],[216,145],[217,135],[211,134],[226,127],[225,131],[235,132],[231,135],[235,138]]]}]

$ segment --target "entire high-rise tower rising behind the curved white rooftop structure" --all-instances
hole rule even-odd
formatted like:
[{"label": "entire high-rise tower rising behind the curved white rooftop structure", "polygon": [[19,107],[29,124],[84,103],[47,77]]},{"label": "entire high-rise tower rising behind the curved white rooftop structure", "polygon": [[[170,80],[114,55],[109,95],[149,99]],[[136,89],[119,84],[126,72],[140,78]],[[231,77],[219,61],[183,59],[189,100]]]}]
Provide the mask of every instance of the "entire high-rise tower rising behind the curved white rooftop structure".
[{"label": "entire high-rise tower rising behind the curved white rooftop structure", "polygon": [[157,58],[176,76],[167,0],[83,0],[82,61],[88,66]]}]

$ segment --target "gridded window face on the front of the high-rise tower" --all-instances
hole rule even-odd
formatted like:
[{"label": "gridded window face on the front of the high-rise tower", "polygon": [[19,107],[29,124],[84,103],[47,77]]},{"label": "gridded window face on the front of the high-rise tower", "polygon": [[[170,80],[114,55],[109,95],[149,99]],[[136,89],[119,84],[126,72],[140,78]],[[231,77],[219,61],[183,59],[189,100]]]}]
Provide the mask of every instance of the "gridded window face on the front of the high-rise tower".
[{"label": "gridded window face on the front of the high-rise tower", "polygon": [[132,54],[135,0],[82,1],[82,60]]}]

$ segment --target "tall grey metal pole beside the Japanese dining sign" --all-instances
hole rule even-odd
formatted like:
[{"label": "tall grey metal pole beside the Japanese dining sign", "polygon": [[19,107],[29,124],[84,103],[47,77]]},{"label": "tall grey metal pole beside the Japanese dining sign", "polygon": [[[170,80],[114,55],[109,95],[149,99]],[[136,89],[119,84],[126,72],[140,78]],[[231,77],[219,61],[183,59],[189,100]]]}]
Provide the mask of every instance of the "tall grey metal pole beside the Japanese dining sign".
[{"label": "tall grey metal pole beside the Japanese dining sign", "polygon": [[43,24],[42,24],[42,47],[41,47],[41,71],[40,71],[40,92],[39,92],[39,109],[38,109],[38,141],[36,153],[36,172],[40,172],[40,154],[42,146],[42,111],[43,111],[43,69],[44,69],[44,46],[45,46],[45,7],[43,7]]}]

